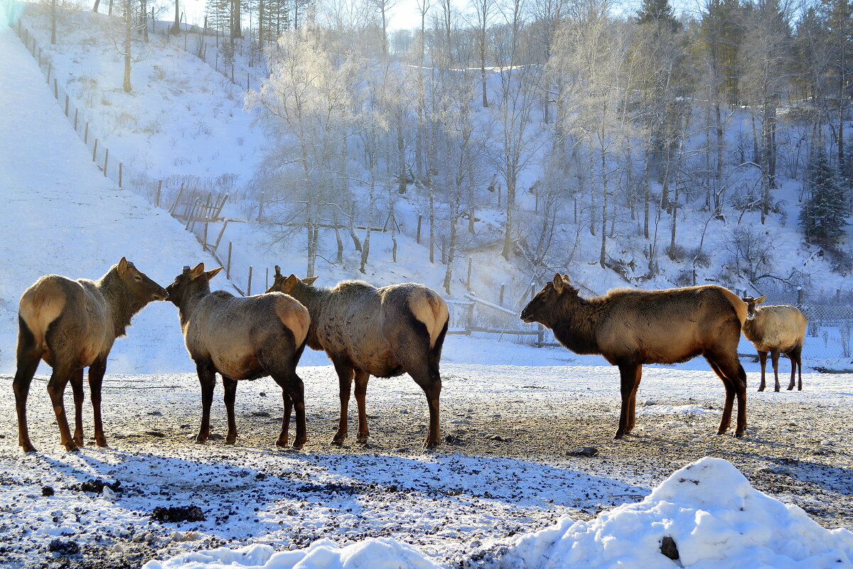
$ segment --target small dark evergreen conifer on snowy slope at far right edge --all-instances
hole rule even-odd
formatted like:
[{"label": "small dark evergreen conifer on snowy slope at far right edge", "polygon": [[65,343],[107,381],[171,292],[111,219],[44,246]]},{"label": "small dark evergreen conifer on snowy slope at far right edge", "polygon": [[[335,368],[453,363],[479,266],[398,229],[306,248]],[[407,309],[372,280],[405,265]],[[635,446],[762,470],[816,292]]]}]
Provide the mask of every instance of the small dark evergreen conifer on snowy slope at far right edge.
[{"label": "small dark evergreen conifer on snowy slope at far right edge", "polygon": [[848,209],[838,170],[829,163],[825,152],[815,154],[806,184],[809,199],[799,216],[806,242],[832,249],[848,225]]}]

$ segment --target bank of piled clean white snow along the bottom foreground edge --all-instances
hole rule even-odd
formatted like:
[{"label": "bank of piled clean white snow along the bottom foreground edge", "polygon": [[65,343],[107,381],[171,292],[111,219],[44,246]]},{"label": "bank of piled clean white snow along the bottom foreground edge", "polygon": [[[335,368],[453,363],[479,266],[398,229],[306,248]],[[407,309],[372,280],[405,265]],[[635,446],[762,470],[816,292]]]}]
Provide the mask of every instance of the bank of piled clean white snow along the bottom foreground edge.
[{"label": "bank of piled clean white snow along the bottom foreground edge", "polygon": [[[661,543],[675,543],[664,556]],[[666,540],[669,542],[669,540]],[[734,465],[705,457],[677,470],[640,503],[595,520],[561,519],[504,547],[477,555],[494,569],[566,567],[850,567],[853,533],[829,531],[798,506],[753,489]],[[676,557],[676,560],[670,557]],[[338,547],[322,540],[308,549],[276,553],[266,545],[214,549],[149,561],[143,569],[421,569],[436,567],[411,546],[368,539]]]}]

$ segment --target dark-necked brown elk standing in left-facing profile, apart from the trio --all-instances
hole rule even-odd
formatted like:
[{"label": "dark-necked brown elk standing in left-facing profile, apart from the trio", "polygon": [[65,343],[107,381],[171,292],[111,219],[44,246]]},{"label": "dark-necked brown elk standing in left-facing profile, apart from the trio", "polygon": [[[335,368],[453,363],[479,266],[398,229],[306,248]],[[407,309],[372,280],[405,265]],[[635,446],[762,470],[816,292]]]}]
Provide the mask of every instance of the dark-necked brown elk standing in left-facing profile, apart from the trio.
[{"label": "dark-necked brown elk standing in left-facing profile, apart from the trio", "polygon": [[669,290],[611,290],[581,298],[566,275],[554,281],[521,311],[539,322],[575,353],[598,353],[618,365],[622,411],[616,438],[634,428],[635,401],[643,364],[675,364],[702,355],[726,388],[718,434],[728,429],[738,398],[735,436],[746,429],[746,373],[738,361],[740,325],[746,304],[721,286]]}]

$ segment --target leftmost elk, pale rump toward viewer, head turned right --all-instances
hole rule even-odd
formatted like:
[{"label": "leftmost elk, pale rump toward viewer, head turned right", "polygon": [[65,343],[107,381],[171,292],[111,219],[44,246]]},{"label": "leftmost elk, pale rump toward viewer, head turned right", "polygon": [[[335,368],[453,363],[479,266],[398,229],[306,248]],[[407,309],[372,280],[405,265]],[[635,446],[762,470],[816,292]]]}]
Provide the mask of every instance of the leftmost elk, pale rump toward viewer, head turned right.
[{"label": "leftmost elk, pale rump toward viewer, head turned right", "polygon": [[[12,388],[18,412],[18,444],[35,451],[26,426],[26,398],[40,359],[53,368],[48,394],[56,413],[60,441],[67,451],[83,445],[83,368],[95,415],[95,442],[106,446],[101,421],[101,386],[113,342],[125,336],[131,318],[148,302],[165,300],[160,284],[148,279],[125,257],[101,279],[72,280],[45,275],[24,291],[18,308],[18,367]],[[65,386],[74,394],[74,436],[63,402]]]}]

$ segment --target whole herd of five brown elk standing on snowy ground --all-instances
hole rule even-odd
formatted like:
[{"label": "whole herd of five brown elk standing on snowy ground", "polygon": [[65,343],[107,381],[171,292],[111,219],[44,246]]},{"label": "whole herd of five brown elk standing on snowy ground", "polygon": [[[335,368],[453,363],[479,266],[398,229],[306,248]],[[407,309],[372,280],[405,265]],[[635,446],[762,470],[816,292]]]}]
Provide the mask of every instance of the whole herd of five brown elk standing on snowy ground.
[{"label": "whole herd of five brown elk standing on snowy ground", "polygon": [[[423,389],[429,409],[424,446],[441,441],[439,361],[449,313],[441,296],[422,284],[374,287],[346,280],[331,288],[315,286],[316,277],[285,277],[276,266],[275,281],[264,294],[234,296],[211,290],[223,267],[206,271],[204,263],[183,267],[165,289],[122,258],[96,281],[55,274],[38,279],[21,296],[18,313],[17,369],[13,382],[18,442],[35,451],[26,422],[26,399],[38,364],[52,368],[48,394],[59,426],[61,445],[73,451],[84,444],[83,372],[89,368],[95,442],[106,446],[101,417],[102,382],[113,342],[125,335],[131,318],[151,301],[171,301],[178,311],[184,342],[201,388],[201,423],[196,442],[210,435],[210,411],[216,374],[223,379],[228,418],[225,442],[235,443],[237,382],[271,376],[281,387],[283,417],[276,445],[286,446],[291,414],[296,417],[293,448],[308,440],[305,386],[297,365],[305,345],[322,350],[339,381],[340,416],[332,443],[347,438],[353,379],[358,411],[356,440],[368,440],[365,407],[369,376],[408,373]],[[746,430],[746,373],[737,347],[740,334],[752,342],[765,388],[767,354],[780,390],[779,357],[791,359],[793,389],[803,388],[802,350],[806,318],[792,306],[761,306],[764,296],[743,298],[717,285],[669,290],[611,290],[584,298],[565,274],[556,274],[521,311],[575,353],[601,354],[619,370],[621,410],[616,439],[635,426],[636,394],[643,364],[674,364],[701,355],[725,388],[718,434],[728,430],[737,399],[734,435]],[[795,371],[797,373],[795,373]],[[68,383],[75,419],[71,433],[64,405]]]}]

